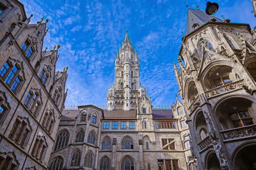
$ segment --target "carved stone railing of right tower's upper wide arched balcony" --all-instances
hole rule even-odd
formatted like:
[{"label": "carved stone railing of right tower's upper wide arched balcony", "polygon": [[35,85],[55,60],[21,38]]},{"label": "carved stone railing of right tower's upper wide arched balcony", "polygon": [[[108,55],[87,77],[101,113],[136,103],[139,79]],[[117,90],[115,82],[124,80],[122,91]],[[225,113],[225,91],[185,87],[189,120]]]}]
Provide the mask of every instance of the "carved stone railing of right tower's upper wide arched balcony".
[{"label": "carved stone railing of right tower's upper wide arched balcony", "polygon": [[213,88],[211,90],[205,91],[205,95],[207,98],[215,97],[217,95],[221,95],[221,94],[242,88],[243,85],[244,85],[243,79],[238,80],[236,82],[232,82],[232,83],[222,85],[222,86]]}]

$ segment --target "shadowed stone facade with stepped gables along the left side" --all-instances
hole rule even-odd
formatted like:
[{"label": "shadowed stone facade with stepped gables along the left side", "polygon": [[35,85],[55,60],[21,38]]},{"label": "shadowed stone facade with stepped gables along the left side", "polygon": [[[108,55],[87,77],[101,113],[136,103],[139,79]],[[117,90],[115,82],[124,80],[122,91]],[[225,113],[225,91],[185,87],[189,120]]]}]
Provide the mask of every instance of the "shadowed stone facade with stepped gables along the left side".
[{"label": "shadowed stone facade with stepped gables along the left side", "polygon": [[42,51],[48,19],[31,17],[18,0],[0,0],[1,170],[47,169],[67,95],[60,46]]}]

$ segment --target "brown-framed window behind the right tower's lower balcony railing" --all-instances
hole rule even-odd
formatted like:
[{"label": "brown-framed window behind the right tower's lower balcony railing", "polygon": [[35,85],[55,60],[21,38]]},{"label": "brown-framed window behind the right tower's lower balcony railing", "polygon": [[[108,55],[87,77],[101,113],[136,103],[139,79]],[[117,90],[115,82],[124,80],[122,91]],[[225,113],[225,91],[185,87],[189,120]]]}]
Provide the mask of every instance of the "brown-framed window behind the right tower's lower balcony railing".
[{"label": "brown-framed window behind the right tower's lower balcony railing", "polygon": [[249,110],[242,110],[229,113],[229,118],[234,128],[255,124]]}]

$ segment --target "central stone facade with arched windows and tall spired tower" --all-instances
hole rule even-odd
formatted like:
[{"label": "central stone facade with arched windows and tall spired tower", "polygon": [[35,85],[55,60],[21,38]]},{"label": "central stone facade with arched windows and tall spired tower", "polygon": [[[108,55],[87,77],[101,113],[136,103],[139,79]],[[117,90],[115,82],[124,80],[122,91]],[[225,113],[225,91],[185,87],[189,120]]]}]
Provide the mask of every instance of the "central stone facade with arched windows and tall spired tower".
[{"label": "central stone facade with arched windows and tall spired tower", "polygon": [[183,104],[177,100],[172,109],[152,109],[128,33],[107,101],[108,110],[82,105],[63,111],[50,170],[195,169]]}]

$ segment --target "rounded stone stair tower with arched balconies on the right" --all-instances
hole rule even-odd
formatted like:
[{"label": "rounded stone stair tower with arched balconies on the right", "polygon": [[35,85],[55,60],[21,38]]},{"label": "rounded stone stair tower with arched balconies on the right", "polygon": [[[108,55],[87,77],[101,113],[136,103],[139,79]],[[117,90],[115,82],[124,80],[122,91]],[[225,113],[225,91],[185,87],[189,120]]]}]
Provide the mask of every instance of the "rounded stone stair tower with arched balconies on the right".
[{"label": "rounded stone stair tower with arched balconies on the right", "polygon": [[256,30],[188,9],[175,75],[200,170],[255,170]]}]

